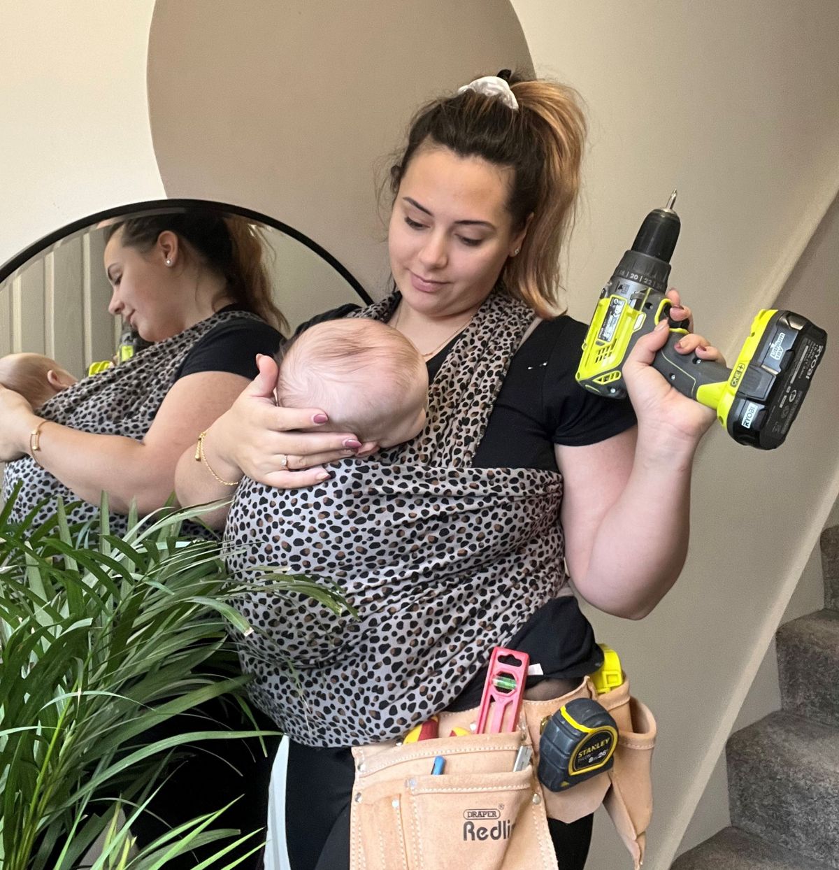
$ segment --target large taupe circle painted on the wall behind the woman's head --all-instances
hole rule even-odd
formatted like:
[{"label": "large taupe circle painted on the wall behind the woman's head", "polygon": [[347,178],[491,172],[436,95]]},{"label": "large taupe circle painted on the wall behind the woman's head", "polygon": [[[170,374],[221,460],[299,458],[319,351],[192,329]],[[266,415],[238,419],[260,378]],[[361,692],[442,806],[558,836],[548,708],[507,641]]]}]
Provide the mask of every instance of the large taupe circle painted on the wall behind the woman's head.
[{"label": "large taupe circle painted on the wall behind the woman's head", "polygon": [[374,298],[388,276],[376,177],[429,98],[530,70],[508,0],[158,0],[149,116],[171,197],[275,215]]}]

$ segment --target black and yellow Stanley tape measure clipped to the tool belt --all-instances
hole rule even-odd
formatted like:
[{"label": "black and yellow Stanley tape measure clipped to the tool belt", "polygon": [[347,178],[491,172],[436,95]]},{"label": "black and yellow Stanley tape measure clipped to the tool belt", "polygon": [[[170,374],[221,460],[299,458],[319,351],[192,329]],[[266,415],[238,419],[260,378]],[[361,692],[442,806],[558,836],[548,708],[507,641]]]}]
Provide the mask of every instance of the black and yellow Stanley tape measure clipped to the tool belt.
[{"label": "black and yellow Stanley tape measure clipped to the tool belt", "polygon": [[561,706],[544,724],[539,740],[539,780],[552,792],[609,770],[617,725],[605,707],[589,698]]}]

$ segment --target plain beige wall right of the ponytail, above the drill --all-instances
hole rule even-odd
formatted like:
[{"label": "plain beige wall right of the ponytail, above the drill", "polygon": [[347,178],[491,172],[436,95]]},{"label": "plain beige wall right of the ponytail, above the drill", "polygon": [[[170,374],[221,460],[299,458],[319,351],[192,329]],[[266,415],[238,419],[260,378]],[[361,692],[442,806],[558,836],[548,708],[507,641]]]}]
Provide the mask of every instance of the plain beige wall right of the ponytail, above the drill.
[{"label": "plain beige wall right of the ponytail, above the drill", "polygon": [[678,188],[673,283],[733,346],[839,185],[834,0],[516,0],[536,68],[576,86],[591,133],[569,303],[596,293]]}]

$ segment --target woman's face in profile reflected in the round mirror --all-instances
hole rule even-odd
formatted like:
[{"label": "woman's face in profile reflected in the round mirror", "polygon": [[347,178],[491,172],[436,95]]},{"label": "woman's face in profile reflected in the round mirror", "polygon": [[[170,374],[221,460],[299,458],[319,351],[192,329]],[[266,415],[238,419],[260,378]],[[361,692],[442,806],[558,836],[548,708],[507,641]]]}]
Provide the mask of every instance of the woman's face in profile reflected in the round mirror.
[{"label": "woman's face in profile reflected in the round mirror", "polygon": [[105,245],[104,264],[113,288],[108,311],[146,341],[163,341],[182,331],[183,313],[179,294],[171,286],[171,270],[165,251],[155,245],[145,253],[123,247],[123,231],[117,230]]}]

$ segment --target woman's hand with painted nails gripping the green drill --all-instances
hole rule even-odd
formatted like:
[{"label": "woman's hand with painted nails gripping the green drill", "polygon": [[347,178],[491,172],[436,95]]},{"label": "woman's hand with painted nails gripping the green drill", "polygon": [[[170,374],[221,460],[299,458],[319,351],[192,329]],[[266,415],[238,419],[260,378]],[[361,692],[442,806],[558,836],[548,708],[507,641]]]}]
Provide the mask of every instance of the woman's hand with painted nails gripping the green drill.
[{"label": "woman's hand with painted nails gripping the green drill", "polygon": [[[673,303],[669,316],[675,321],[687,320],[689,333],[676,345],[676,351],[686,356],[696,353],[701,359],[714,360],[725,365],[722,353],[709,345],[707,339],[692,331],[690,309],[681,304],[678,291],[667,291]],[[693,448],[714,422],[716,413],[695,399],[687,398],[671,386],[662,374],[652,367],[656,351],[667,344],[669,329],[666,319],[656,330],[639,338],[623,366],[629,398],[638,417],[639,436],[643,431],[661,438],[665,444],[685,445]]]}]

